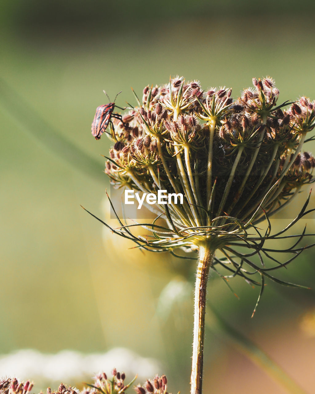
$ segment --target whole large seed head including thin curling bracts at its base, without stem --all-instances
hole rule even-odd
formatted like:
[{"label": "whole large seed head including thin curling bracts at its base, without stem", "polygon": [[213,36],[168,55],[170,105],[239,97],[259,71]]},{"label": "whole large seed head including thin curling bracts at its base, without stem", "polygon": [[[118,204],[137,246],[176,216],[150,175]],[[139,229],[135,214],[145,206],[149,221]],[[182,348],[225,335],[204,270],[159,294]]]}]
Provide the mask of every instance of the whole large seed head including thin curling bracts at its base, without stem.
[{"label": "whole large seed head including thin curling bracts at its base, without stem", "polygon": [[[114,145],[105,171],[118,188],[183,195],[182,204],[174,198],[167,204],[157,198],[154,204],[144,203],[167,223],[141,224],[151,236],[134,236],[133,226],[139,224],[126,225],[120,219],[120,227],[112,231],[156,252],[200,250],[207,243],[212,251],[221,251],[211,263],[221,277],[240,275],[261,285],[262,291],[265,277],[285,284],[273,271],[304,249],[298,247],[304,232],[291,247],[275,249],[293,255],[286,262],[272,256],[264,243],[286,238],[283,234],[309,212],[307,200],[284,230],[271,233],[269,218],[312,182],[315,158],[303,152],[302,145],[313,139],[308,132],[315,126],[315,109],[306,97],[279,104],[271,77],[252,82],[236,100],[232,89],[204,91],[198,81],[179,77],[145,87],[138,107],[122,115],[122,121],[112,119],[107,134]],[[263,220],[267,226],[261,231],[257,225]],[[264,259],[274,265],[266,268]]]}]

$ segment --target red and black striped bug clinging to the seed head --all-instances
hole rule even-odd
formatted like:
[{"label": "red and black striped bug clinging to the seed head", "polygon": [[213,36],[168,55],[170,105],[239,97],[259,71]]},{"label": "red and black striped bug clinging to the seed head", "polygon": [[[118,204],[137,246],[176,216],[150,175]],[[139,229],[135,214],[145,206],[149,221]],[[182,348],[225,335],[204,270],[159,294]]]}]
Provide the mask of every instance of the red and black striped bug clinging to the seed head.
[{"label": "red and black striped bug clinging to the seed head", "polygon": [[[104,93],[108,97],[106,91],[104,91]],[[121,91],[119,93],[121,93]],[[116,100],[117,96],[119,95],[119,93],[117,93],[115,100]],[[109,97],[108,97],[108,99],[109,99]],[[95,137],[95,139],[101,138],[101,135],[106,130],[108,123],[111,123],[113,126],[113,123],[111,122],[111,118],[120,119],[120,121],[122,122],[121,115],[119,115],[119,113],[113,113],[113,110],[115,108],[115,100],[114,100],[114,102],[100,105],[99,107],[96,108],[96,113],[95,113],[95,117],[93,119],[92,129],[91,129],[92,135]],[[118,106],[116,106],[116,107],[120,108]],[[124,110],[125,108],[120,108],[120,109]],[[124,124],[124,122],[122,122],[122,123]]]}]

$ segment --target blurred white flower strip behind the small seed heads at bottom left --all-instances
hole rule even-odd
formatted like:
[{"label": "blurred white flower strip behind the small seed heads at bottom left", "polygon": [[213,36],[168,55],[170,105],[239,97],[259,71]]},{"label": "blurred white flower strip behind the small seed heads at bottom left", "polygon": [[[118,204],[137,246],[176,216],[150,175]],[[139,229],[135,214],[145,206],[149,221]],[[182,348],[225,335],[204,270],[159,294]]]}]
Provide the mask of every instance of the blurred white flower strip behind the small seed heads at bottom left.
[{"label": "blurred white flower strip behind the small seed heads at bottom left", "polygon": [[60,382],[89,381],[100,371],[110,373],[113,368],[125,372],[130,379],[138,374],[148,379],[159,373],[160,365],[154,359],[137,355],[125,348],[114,348],[107,353],[83,354],[63,350],[56,354],[41,353],[32,349],[21,349],[0,356],[1,375],[21,380],[33,379],[36,383],[50,385]]}]

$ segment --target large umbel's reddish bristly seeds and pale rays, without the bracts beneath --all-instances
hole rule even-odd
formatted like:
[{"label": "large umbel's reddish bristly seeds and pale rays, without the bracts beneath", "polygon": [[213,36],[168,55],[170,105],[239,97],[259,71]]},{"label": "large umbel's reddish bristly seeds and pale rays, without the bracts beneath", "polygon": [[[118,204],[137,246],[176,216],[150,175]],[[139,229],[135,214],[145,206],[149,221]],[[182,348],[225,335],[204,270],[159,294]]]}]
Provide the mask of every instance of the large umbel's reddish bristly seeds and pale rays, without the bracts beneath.
[{"label": "large umbel's reddish bristly seeds and pale rays, without the bracts beneath", "polygon": [[301,97],[282,110],[272,78],[253,84],[235,101],[231,89],[203,91],[183,78],[145,87],[139,107],[113,119],[106,173],[118,187],[183,193],[182,206],[167,207],[179,230],[224,225],[222,215],[257,220],[258,207],[271,216],[311,181],[315,159],[300,151],[314,102]]}]

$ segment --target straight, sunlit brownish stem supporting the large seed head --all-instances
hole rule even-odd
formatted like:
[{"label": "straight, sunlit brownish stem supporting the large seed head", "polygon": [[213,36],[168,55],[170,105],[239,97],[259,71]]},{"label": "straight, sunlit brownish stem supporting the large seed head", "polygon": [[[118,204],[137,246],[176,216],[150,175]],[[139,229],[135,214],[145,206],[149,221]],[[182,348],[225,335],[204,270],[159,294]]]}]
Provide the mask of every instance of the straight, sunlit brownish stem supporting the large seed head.
[{"label": "straight, sunlit brownish stem supporting the large seed head", "polygon": [[206,291],[209,268],[215,254],[209,243],[200,245],[195,284],[193,362],[191,368],[191,394],[201,394],[202,366],[204,361],[204,329],[206,316]]}]

